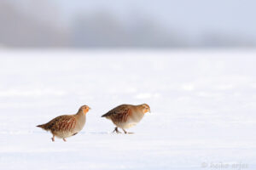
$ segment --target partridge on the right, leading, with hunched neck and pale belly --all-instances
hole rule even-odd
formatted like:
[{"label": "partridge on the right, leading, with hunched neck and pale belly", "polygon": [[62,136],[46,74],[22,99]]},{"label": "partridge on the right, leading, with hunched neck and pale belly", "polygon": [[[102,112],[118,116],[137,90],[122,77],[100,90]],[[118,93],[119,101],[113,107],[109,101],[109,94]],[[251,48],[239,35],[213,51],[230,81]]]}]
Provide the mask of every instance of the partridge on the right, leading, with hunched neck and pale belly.
[{"label": "partridge on the right, leading, with hunched neck and pale belly", "polygon": [[143,105],[119,105],[113,110],[108,111],[102,117],[110,119],[116,127],[113,133],[120,133],[118,127],[122,128],[125,133],[126,128],[137,125],[143,119],[145,113],[150,112],[150,107],[147,104]]}]

